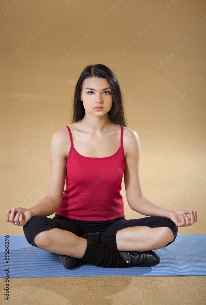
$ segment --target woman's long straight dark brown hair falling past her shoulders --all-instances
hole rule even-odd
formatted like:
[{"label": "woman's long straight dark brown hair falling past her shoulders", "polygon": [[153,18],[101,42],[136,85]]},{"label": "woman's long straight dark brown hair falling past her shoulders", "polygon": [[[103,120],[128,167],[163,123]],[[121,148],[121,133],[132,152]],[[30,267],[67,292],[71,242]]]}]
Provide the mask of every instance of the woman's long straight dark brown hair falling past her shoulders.
[{"label": "woman's long straight dark brown hair falling past her shoulders", "polygon": [[120,124],[127,127],[122,90],[112,70],[102,64],[88,65],[82,71],[76,83],[73,95],[73,108],[71,112],[72,123],[81,120],[85,115],[85,109],[83,107],[83,102],[80,101],[80,96],[83,81],[89,77],[106,78],[112,91],[112,108],[108,112],[108,118],[115,124]]}]

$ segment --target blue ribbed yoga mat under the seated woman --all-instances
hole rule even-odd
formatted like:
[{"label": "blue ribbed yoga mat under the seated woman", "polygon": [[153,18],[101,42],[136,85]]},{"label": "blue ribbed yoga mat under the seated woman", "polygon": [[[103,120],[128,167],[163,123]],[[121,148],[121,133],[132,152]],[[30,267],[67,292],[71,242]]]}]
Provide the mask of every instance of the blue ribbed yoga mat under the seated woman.
[{"label": "blue ribbed yoga mat under the seated woman", "polygon": [[24,235],[9,236],[9,260],[6,262],[8,257],[5,257],[5,236],[0,236],[0,277],[206,275],[205,236],[177,235],[175,242],[155,250],[161,259],[155,267],[103,268],[85,263],[70,270],[62,266],[57,254],[31,246]]}]

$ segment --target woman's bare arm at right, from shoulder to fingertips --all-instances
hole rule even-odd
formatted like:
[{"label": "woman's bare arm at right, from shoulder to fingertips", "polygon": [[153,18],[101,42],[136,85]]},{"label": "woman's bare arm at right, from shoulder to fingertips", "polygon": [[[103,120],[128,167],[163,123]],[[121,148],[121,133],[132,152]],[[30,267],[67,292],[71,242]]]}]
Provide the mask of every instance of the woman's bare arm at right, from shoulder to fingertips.
[{"label": "woman's bare arm at right, from shoulder to fingertips", "polygon": [[[197,211],[187,209],[169,210],[144,195],[140,182],[139,138],[137,133],[130,128],[126,129],[125,134],[125,147],[133,147],[126,154],[124,170],[126,197],[131,209],[145,216],[168,217],[179,227],[197,222]],[[187,214],[190,214],[190,217]]]}]

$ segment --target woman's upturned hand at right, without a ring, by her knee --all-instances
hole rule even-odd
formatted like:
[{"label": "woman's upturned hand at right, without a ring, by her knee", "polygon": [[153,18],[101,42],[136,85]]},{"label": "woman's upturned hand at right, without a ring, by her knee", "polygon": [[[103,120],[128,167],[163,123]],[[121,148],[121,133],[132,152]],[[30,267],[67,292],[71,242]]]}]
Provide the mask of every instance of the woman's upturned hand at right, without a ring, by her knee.
[{"label": "woman's upturned hand at right, without a ring, by her knee", "polygon": [[[187,214],[190,214],[190,217]],[[177,227],[187,227],[197,222],[197,211],[186,209],[172,210],[168,213],[168,217]]]}]

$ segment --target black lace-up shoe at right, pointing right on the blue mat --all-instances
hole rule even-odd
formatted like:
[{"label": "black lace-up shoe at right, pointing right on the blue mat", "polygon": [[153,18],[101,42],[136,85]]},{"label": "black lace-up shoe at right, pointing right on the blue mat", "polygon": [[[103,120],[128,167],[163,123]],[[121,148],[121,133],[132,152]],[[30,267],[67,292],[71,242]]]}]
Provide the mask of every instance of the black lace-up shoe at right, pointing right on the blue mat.
[{"label": "black lace-up shoe at right, pointing right on the blue mat", "polygon": [[119,251],[125,259],[126,267],[153,267],[159,264],[160,257],[152,250],[145,252]]}]

